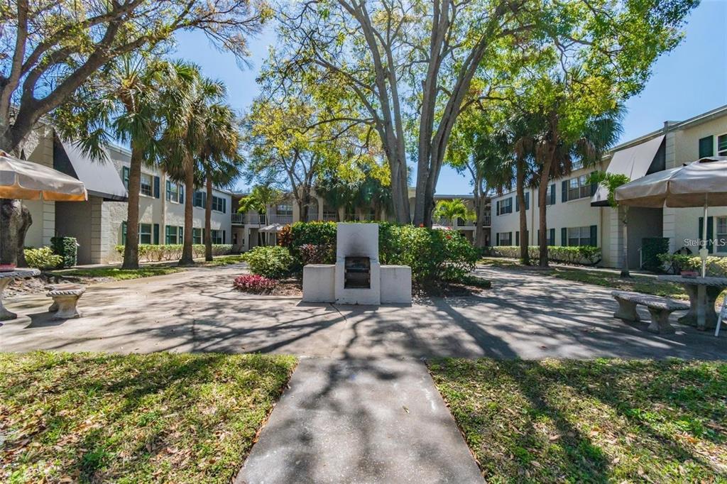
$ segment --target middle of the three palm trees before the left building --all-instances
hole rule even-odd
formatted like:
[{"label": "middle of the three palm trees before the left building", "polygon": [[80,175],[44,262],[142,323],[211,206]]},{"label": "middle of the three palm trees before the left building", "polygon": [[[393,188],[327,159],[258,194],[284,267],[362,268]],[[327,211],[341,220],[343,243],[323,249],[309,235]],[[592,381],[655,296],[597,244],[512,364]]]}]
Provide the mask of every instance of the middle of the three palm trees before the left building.
[{"label": "middle of the three palm trees before the left building", "polygon": [[[176,102],[170,108],[169,125],[164,134],[166,172],[185,186],[184,238],[179,265],[194,265],[193,196],[198,176],[198,160],[206,143],[206,121],[213,105],[225,97],[225,85],[204,78],[199,68],[189,66],[193,75],[174,84],[168,97]],[[208,231],[209,233],[209,231]]]}]

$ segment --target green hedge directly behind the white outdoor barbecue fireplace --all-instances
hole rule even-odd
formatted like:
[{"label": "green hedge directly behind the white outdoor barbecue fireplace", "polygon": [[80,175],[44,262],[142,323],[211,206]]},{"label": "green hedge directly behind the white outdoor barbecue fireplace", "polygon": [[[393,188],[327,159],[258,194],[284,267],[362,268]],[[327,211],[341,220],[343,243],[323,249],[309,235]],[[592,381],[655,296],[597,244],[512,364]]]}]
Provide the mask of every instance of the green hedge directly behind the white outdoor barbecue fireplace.
[{"label": "green hedge directly behind the white outdoor barbecue fireplace", "polygon": [[[411,267],[412,282],[419,286],[462,281],[475,267],[478,250],[460,233],[413,225],[379,224],[379,262]],[[287,244],[294,269],[315,260],[334,263],[336,222],[296,222]]]}]

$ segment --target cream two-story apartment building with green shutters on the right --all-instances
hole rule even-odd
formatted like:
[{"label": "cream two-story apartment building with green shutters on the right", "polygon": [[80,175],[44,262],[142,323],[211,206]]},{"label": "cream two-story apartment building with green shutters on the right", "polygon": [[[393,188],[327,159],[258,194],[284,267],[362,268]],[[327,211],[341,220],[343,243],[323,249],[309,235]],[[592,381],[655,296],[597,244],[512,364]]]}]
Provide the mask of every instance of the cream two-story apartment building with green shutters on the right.
[{"label": "cream two-story apartment building with green shutters on the right", "polygon": [[[606,191],[588,185],[587,175],[596,169],[626,174],[636,180],[646,174],[674,168],[704,156],[727,155],[727,106],[710,110],[685,121],[667,121],[661,129],[624,142],[608,153],[600,166],[575,169],[568,177],[553,180],[547,190],[547,238],[550,245],[601,247],[602,264],[622,264],[623,209],[612,209]],[[521,236],[519,210],[527,214],[529,245],[537,245],[539,214],[537,189],[526,191],[526,206],[520,207],[515,193],[492,201],[493,245],[518,245]],[[699,238],[701,209],[642,209],[628,211],[627,248],[630,267],[640,266],[642,239],[669,239],[670,251],[682,248],[696,253],[690,241]],[[710,209],[707,237],[727,238],[727,207]],[[711,246],[712,254],[727,254],[727,246]]]}]

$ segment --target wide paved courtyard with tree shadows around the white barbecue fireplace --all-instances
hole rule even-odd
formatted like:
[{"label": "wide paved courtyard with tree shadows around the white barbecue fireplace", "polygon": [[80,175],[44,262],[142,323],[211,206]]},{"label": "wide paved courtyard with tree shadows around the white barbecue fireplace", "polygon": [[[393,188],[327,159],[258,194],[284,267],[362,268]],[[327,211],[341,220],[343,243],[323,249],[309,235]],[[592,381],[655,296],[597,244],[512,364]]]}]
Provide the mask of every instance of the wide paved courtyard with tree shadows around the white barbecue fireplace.
[{"label": "wide paved courtyard with tree shadows around the white barbecue fireplace", "polygon": [[[304,304],[232,289],[240,265],[103,283],[84,317],[48,318],[44,294],[7,301],[23,315],[0,326],[0,351],[281,352],[326,358],[727,358],[724,338],[680,326],[656,335],[611,317],[610,290],[479,268],[492,289],[411,307]],[[672,322],[676,316],[672,315]],[[643,312],[648,320],[648,312]]]}]

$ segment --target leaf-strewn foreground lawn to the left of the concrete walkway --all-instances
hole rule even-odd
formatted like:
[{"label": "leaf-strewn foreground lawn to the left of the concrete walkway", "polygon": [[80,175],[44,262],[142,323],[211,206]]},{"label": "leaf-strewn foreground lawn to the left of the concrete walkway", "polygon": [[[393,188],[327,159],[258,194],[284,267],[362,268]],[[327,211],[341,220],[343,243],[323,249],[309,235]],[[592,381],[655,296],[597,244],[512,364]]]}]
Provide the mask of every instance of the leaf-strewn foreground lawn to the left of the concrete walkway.
[{"label": "leaf-strewn foreground lawn to the left of the concrete walkway", "polygon": [[290,356],[0,354],[0,482],[230,483]]}]

